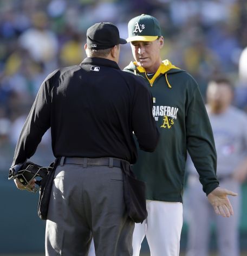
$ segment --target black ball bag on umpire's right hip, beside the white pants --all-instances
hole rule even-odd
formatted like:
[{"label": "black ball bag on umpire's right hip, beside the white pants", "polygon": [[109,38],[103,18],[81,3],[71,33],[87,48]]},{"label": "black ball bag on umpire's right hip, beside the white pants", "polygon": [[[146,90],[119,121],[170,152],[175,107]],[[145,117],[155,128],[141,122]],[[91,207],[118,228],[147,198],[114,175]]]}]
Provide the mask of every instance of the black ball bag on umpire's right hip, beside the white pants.
[{"label": "black ball bag on umpire's right hip, beside the white pants", "polygon": [[135,223],[142,223],[147,218],[146,184],[135,177],[131,165],[121,161],[124,177],[124,199],[128,216]]}]

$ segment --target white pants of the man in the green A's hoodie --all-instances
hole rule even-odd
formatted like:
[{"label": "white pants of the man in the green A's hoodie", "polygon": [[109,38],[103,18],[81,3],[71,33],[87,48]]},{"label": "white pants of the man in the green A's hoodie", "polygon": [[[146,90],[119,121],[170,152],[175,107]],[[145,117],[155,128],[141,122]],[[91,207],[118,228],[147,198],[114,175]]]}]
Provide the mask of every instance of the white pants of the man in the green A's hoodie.
[{"label": "white pants of the man in the green A's hoodie", "polygon": [[139,256],[145,235],[151,256],[179,256],[183,204],[147,200],[147,219],[135,223],[133,256]]}]

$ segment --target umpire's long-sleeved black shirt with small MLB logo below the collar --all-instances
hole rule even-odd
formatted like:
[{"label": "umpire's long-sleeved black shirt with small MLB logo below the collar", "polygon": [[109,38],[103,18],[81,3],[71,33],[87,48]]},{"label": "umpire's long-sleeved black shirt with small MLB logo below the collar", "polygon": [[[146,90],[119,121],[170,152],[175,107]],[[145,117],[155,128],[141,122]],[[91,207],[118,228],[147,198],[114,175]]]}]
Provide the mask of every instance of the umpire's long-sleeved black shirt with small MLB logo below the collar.
[{"label": "umpire's long-sleeved black shirt with small MLB logo below the collar", "polygon": [[12,166],[36,151],[51,127],[55,157],[115,157],[134,164],[137,148],[154,151],[159,132],[145,81],[112,60],[86,58],[41,85],[16,146]]}]

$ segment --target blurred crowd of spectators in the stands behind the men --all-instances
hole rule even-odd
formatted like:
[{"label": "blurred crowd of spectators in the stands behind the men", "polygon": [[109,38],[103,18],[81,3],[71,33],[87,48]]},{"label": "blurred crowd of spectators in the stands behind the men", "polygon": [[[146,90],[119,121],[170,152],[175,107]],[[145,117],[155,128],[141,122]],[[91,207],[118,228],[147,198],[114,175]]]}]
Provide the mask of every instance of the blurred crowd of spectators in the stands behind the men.
[{"label": "blurred crowd of spectators in the stands behind the men", "polygon": [[[0,1],[0,171],[8,170],[28,111],[44,78],[86,57],[86,30],[113,22],[127,38],[127,23],[142,13],[158,18],[162,55],[192,74],[205,93],[210,77],[226,73],[236,86],[236,105],[246,110],[247,82],[239,80],[240,53],[247,46],[245,0],[8,0]],[[119,66],[132,60],[121,47]],[[247,64],[246,64],[247,66]],[[53,159],[49,133],[38,164]]]}]

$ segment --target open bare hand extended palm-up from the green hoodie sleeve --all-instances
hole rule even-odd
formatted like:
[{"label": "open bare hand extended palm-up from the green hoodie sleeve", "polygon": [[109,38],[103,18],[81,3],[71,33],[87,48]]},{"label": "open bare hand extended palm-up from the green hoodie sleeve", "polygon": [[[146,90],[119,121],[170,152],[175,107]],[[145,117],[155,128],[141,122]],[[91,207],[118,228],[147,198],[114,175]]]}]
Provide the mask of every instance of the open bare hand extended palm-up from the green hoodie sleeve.
[{"label": "open bare hand extended palm-up from the green hoodie sleeve", "polygon": [[227,195],[237,196],[238,194],[218,186],[218,188],[207,195],[207,199],[213,205],[216,214],[222,215],[223,217],[230,217],[233,215],[232,205]]}]

